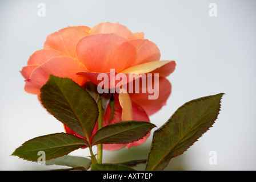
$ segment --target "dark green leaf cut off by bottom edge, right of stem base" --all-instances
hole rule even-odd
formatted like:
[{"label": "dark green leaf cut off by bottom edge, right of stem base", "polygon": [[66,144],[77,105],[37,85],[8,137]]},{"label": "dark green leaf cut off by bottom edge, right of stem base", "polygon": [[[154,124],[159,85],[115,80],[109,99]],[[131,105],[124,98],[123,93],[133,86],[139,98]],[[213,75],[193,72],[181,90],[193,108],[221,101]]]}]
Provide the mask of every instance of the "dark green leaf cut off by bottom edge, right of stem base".
[{"label": "dark green leaf cut off by bottom edge, right of stem base", "polygon": [[133,168],[121,164],[94,164],[91,171],[135,171]]}]

